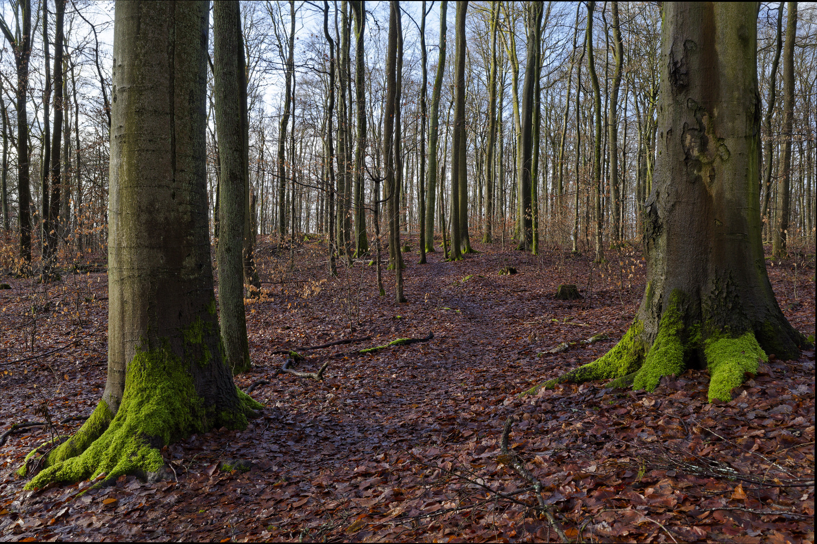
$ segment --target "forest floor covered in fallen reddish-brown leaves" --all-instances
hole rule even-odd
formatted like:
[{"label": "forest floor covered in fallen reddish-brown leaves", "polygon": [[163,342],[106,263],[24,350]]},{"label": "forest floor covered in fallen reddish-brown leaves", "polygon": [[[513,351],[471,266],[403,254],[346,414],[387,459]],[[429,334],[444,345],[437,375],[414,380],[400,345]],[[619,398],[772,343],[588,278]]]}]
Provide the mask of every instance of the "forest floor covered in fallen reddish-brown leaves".
[{"label": "forest floor covered in fallen reddish-brown leaves", "polygon": [[[413,244],[416,247],[416,243]],[[688,370],[652,393],[603,383],[532,386],[605,353],[644,291],[637,249],[609,264],[501,244],[456,263],[405,254],[408,304],[393,273],[338,263],[324,245],[260,242],[266,294],[248,305],[255,368],[237,377],[266,405],[247,430],[212,430],[163,450],[173,475],[23,490],[15,471],[46,427],[0,449],[0,539],[150,541],[559,542],[528,481],[569,542],[814,542],[815,353],[770,360],[730,403],[708,404],[708,374]],[[815,332],[815,250],[771,263],[779,304]],[[100,260],[101,261],[101,260]],[[505,265],[518,274],[498,275]],[[105,384],[104,268],[38,285],[0,275],[0,432],[87,416]],[[575,283],[579,301],[557,301]],[[37,317],[34,328],[32,315]],[[360,350],[397,338],[430,341]],[[608,332],[609,339],[580,341]],[[324,381],[277,374],[278,350],[328,362]],[[557,354],[548,350],[568,343]],[[351,353],[350,353],[351,352]],[[335,355],[335,356],[333,356]],[[514,417],[509,453],[502,430]],[[81,421],[57,424],[69,434]]]}]

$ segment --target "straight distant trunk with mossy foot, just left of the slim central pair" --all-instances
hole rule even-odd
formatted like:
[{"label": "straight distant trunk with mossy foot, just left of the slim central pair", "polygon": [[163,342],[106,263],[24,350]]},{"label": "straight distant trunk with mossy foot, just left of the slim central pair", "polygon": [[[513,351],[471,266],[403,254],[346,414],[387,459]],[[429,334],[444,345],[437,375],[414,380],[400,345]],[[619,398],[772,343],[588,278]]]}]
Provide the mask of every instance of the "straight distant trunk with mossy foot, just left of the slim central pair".
[{"label": "straight distant trunk with mossy foot, just left of the slim central pair", "polygon": [[357,138],[355,141],[355,255],[368,253],[366,237],[366,207],[364,198],[364,169],[366,148],[366,66],[364,64],[364,28],[366,25],[366,2],[352,3],[355,16],[355,115],[357,118]]}]

